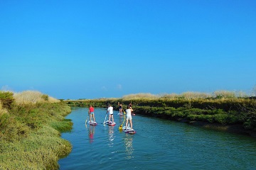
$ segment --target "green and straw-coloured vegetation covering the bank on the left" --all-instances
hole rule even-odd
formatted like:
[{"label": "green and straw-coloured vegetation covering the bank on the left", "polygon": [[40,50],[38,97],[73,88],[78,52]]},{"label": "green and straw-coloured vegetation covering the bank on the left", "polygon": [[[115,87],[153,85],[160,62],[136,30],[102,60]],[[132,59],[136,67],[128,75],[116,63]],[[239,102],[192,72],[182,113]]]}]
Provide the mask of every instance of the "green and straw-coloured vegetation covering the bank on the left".
[{"label": "green and straw-coloured vegetation covering the bank on the left", "polygon": [[71,130],[70,106],[38,91],[0,91],[0,169],[59,169],[71,152],[60,132]]}]

